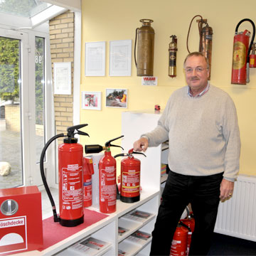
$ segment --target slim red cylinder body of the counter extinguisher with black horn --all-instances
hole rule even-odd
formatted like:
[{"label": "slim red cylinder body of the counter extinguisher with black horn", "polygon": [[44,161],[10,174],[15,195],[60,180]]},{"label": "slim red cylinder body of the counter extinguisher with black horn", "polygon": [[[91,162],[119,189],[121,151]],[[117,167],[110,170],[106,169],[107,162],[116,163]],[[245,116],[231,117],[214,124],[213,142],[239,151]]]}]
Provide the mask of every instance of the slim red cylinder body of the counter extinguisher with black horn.
[{"label": "slim red cylinder body of the counter extinguisher with black horn", "polygon": [[100,212],[114,213],[117,201],[117,162],[106,149],[99,162],[100,179]]}]

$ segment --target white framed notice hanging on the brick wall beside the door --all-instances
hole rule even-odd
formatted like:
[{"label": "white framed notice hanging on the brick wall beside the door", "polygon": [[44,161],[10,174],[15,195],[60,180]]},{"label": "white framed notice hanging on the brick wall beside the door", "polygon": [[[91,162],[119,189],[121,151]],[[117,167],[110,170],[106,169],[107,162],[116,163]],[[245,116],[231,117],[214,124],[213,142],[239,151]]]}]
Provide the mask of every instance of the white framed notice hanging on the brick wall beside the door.
[{"label": "white framed notice hanging on the brick wall beside the door", "polygon": [[71,95],[71,63],[53,63],[54,94]]}]

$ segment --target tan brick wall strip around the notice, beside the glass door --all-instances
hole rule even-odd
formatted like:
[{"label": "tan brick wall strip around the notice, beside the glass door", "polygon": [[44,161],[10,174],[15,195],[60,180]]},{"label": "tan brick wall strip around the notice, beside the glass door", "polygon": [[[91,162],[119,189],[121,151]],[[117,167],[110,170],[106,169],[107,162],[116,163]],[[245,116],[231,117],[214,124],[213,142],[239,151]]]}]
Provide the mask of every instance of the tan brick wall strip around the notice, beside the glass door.
[{"label": "tan brick wall strip around the notice, beside the glass door", "polygon": [[[71,62],[71,95],[54,95],[57,134],[73,125],[74,13],[67,11],[50,20],[50,54],[53,63]],[[54,77],[53,77],[54,81]]]}]

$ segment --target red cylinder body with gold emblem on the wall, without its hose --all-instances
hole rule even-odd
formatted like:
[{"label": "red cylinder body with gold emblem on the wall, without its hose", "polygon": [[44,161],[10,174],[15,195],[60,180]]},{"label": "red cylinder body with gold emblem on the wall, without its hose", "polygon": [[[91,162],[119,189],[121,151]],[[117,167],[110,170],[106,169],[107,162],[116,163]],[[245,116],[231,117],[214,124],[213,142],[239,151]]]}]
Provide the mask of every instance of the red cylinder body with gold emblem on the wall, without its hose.
[{"label": "red cylinder body with gold emblem on the wall, without its hose", "polygon": [[245,30],[234,36],[232,84],[246,85],[246,63],[250,32]]}]

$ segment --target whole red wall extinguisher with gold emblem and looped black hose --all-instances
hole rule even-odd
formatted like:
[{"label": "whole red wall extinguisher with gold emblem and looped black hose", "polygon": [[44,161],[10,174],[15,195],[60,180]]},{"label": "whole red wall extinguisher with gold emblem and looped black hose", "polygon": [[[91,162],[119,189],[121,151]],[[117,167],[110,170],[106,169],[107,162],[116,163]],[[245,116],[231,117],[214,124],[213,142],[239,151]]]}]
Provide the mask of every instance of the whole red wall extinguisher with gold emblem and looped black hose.
[{"label": "whole red wall extinguisher with gold emblem and looped black hose", "polygon": [[[238,33],[240,24],[244,21],[249,21],[252,24],[253,34],[252,40],[249,46],[250,31]],[[246,85],[250,82],[249,78],[249,66],[250,66],[250,50],[252,49],[252,43],[255,38],[255,23],[249,18],[244,18],[239,21],[235,28],[234,44],[233,44],[233,63],[232,63],[232,76],[231,83],[238,85]]]}]

